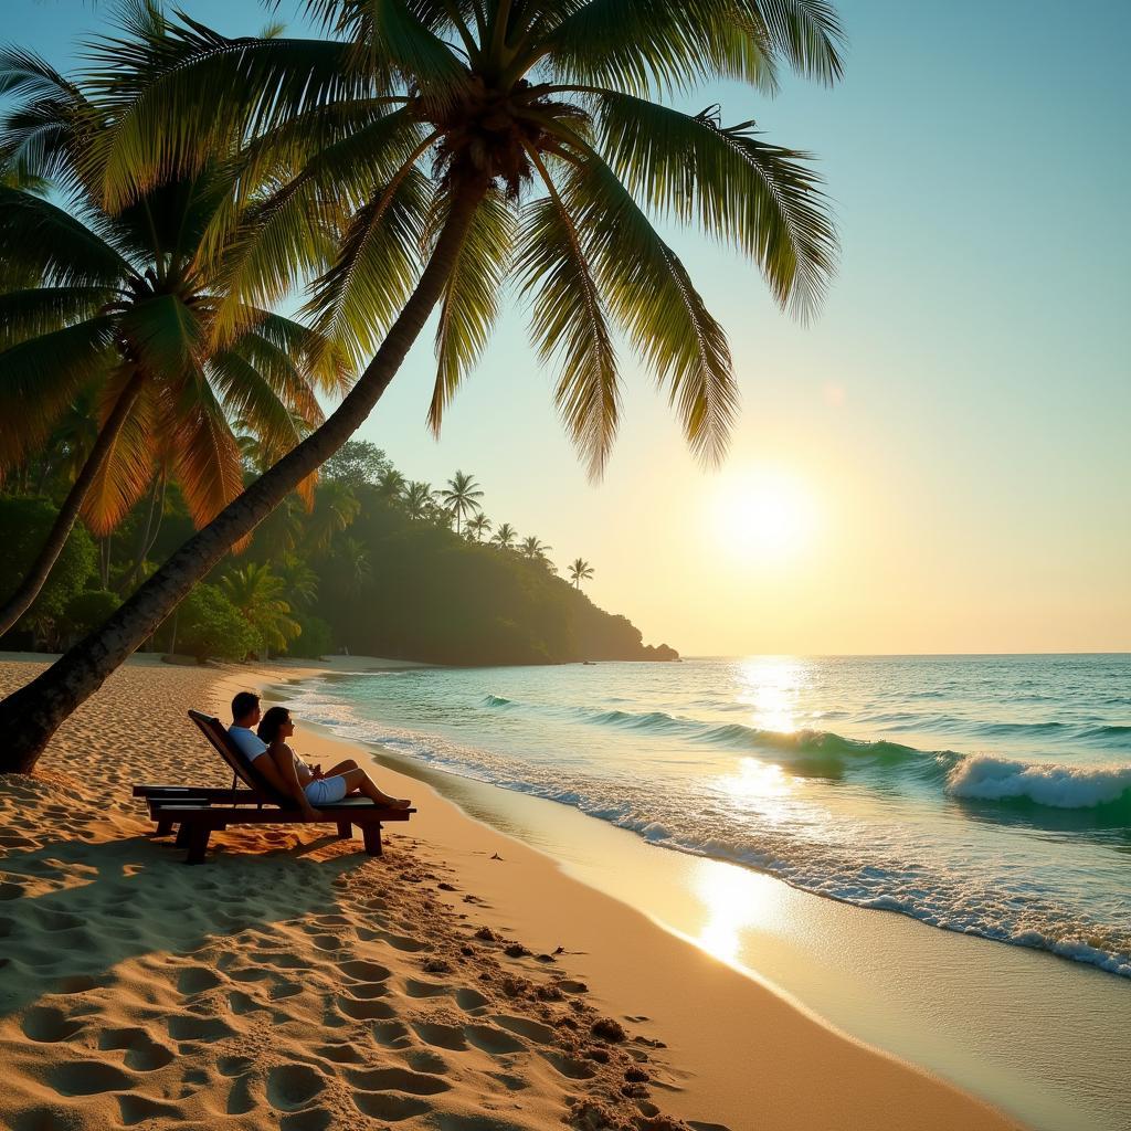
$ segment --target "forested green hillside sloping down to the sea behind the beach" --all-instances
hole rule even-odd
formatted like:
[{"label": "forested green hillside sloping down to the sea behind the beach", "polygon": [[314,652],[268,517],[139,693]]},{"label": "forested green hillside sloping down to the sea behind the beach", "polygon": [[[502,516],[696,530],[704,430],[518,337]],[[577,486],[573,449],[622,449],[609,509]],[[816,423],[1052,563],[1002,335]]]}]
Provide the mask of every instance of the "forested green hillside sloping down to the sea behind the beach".
[{"label": "forested green hillside sloping down to the sea behind the beach", "polygon": [[[269,458],[241,438],[244,473]],[[60,440],[60,443],[63,443]],[[0,590],[19,584],[68,490],[74,458],[44,450],[0,495]],[[581,592],[581,558],[560,577],[552,547],[494,523],[473,475],[439,489],[409,481],[365,441],[328,461],[307,498],[295,493],[250,544],[193,587],[146,648],[244,659],[328,653],[439,664],[674,659],[645,646],[627,618]],[[94,537],[80,521],[35,602],[0,647],[55,650],[102,623],[191,532],[175,482],[156,475],[116,526]]]}]

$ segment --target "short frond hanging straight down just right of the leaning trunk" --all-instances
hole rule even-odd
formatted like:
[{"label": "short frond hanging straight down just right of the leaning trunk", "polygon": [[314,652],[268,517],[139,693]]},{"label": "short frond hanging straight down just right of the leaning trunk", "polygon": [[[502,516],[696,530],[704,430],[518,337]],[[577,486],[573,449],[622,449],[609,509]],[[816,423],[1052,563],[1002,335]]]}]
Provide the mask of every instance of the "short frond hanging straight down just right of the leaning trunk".
[{"label": "short frond hanging straight down just right of the leaning trunk", "polygon": [[480,204],[448,278],[435,331],[438,370],[429,425],[439,435],[443,412],[475,368],[499,314],[515,248],[515,214],[499,189]]}]

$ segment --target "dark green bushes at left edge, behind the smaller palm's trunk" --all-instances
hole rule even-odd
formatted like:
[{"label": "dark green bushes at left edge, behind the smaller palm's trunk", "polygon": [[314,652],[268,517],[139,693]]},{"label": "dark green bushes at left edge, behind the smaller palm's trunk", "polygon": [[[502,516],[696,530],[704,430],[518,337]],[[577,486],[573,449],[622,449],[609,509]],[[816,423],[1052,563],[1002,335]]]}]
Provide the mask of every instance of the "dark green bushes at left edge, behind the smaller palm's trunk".
[{"label": "dark green bushes at left edge, behind the smaller palm's trunk", "polygon": [[[5,596],[27,572],[54,519],[55,508],[46,499],[0,495],[0,588]],[[46,584],[17,627],[45,636],[61,629],[68,604],[94,576],[95,561],[90,535],[76,526],[55,559]]]}]

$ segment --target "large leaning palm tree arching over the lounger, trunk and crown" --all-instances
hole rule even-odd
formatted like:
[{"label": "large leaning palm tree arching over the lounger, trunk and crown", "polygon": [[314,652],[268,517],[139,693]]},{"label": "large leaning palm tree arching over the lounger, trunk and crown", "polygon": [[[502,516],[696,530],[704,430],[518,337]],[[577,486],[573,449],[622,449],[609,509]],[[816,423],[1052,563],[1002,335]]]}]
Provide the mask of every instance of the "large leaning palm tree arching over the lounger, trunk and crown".
[{"label": "large leaning palm tree arching over the lounger, trunk and crown", "polygon": [[750,122],[651,101],[718,77],[768,93],[782,63],[835,81],[828,0],[305,7],[329,38],[233,41],[150,16],[103,41],[92,66],[113,130],[88,161],[115,210],[239,145],[233,211],[251,207],[247,254],[227,276],[233,304],[267,304],[321,269],[311,216],[340,214],[307,309],[323,331],[351,331],[364,371],[102,629],[0,705],[0,733],[19,735],[2,768],[34,765],[196,579],[349,439],[438,304],[432,428],[513,280],[539,353],[560,360],[558,407],[596,476],[619,421],[618,327],[698,456],[719,456],[734,418],[723,328],[649,211],[745,253],[798,312],[829,275],[834,232],[805,155],[760,140]]}]

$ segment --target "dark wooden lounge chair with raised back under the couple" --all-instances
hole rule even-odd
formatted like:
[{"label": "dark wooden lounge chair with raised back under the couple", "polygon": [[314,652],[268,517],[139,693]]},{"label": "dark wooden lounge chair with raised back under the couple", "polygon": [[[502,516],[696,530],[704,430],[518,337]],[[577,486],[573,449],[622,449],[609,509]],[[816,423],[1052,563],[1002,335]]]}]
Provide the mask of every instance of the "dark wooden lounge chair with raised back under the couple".
[{"label": "dark wooden lounge chair with raised back under the couple", "polygon": [[[133,796],[144,797],[149,806],[157,836],[167,836],[179,827],[176,843],[188,849],[188,864],[202,864],[213,830],[226,829],[230,824],[337,824],[339,837],[351,836],[352,826],[356,824],[365,841],[365,852],[380,856],[381,824],[407,821],[416,812],[415,809],[386,809],[369,797],[346,797],[334,805],[320,806],[318,821],[308,821],[294,808],[294,802],[273,788],[254,762],[249,762],[235,749],[218,718],[198,710],[190,710],[189,718],[232,770],[232,787],[133,786]],[[241,782],[243,788],[240,788]]]}]

